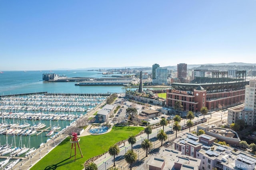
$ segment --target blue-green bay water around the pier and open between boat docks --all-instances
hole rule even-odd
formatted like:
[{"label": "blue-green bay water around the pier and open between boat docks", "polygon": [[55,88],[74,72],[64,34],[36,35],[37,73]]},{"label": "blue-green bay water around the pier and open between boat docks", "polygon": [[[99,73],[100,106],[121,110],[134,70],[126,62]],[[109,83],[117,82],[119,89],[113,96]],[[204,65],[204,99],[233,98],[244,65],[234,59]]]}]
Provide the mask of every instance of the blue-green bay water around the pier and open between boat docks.
[{"label": "blue-green bay water around the pier and open between boat docks", "polygon": [[[48,82],[42,80],[43,73],[56,73],[58,75],[65,75],[67,77],[90,77],[100,78],[104,75],[100,71],[87,71],[87,70],[72,70],[72,71],[2,71],[0,73],[0,96],[2,95],[18,95],[24,93],[122,93],[123,86],[76,86],[77,82]],[[135,89],[131,89],[135,90]],[[94,107],[94,106],[92,106]],[[87,109],[87,107],[86,107]],[[83,114],[86,114],[84,112]],[[3,121],[0,120],[0,121]],[[5,120],[6,121],[6,120]],[[7,119],[7,123],[17,123],[15,119]],[[34,125],[39,121],[27,120],[30,125]],[[46,124],[46,127],[50,127],[50,121],[41,121]],[[62,128],[70,125],[70,121],[51,121],[51,125],[59,125]],[[60,130],[61,130],[60,129]],[[46,142],[49,137],[46,136],[46,132],[42,132],[38,136],[7,136],[0,135],[0,144],[12,144],[12,145],[25,145],[26,147],[39,148],[40,144]]]}]

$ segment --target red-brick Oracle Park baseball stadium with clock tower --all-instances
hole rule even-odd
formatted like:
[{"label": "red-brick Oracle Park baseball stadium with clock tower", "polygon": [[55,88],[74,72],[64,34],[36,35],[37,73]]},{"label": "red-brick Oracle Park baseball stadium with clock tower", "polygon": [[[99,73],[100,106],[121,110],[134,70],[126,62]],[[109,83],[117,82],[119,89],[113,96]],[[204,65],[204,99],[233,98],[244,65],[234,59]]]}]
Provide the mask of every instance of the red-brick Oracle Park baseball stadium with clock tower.
[{"label": "red-brick Oracle Park baseball stadium with clock tower", "polygon": [[166,90],[166,105],[182,103],[185,111],[219,110],[244,102],[246,71],[236,71],[235,78],[228,78],[228,71],[210,71],[212,77],[196,77],[191,83],[172,83]]}]

